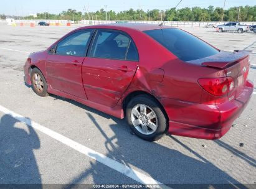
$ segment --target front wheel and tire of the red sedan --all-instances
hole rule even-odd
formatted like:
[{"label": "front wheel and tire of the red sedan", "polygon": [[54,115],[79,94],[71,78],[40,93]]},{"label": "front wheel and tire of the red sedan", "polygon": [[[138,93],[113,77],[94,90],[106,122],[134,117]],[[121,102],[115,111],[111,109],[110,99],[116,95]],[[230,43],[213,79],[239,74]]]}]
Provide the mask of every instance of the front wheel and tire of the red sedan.
[{"label": "front wheel and tire of the red sedan", "polygon": [[47,83],[45,81],[44,75],[38,68],[33,68],[31,71],[31,84],[32,90],[39,96],[45,97],[49,94],[47,93]]}]

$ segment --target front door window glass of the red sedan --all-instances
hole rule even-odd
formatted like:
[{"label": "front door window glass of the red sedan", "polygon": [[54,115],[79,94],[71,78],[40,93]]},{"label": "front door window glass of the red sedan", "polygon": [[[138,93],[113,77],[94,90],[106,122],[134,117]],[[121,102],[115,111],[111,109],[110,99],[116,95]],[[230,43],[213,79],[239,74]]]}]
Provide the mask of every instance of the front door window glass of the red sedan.
[{"label": "front door window glass of the red sedan", "polygon": [[84,57],[91,32],[91,30],[82,30],[65,37],[57,44],[55,54]]}]

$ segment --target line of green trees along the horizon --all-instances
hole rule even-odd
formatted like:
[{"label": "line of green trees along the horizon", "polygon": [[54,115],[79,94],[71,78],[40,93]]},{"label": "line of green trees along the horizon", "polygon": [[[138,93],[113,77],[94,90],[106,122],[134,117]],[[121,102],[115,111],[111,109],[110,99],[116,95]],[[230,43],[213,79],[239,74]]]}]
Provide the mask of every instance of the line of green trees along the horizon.
[{"label": "line of green trees along the horizon", "polygon": [[[5,19],[5,15],[0,15]],[[37,13],[37,17],[25,16],[16,19],[63,19],[70,21],[87,20],[110,20],[110,21],[256,21],[256,6],[230,7],[223,10],[221,7],[209,6],[201,7],[184,7],[182,9],[171,8],[166,11],[153,9],[143,11],[142,9],[129,9],[128,11],[106,11],[100,9],[96,12],[81,12],[75,9],[62,11],[60,14],[50,14],[49,12]]]}]

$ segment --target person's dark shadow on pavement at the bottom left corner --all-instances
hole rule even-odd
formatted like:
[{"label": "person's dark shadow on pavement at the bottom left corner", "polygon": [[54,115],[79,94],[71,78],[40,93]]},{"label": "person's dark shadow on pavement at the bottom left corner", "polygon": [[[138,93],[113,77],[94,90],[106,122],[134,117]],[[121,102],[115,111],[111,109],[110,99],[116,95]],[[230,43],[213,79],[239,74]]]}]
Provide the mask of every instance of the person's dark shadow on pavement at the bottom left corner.
[{"label": "person's dark shadow on pavement at the bottom left corner", "polygon": [[0,184],[37,184],[34,188],[42,188],[33,153],[34,149],[40,148],[39,137],[31,126],[27,126],[29,133],[16,127],[17,122],[17,119],[8,114],[1,117]]}]

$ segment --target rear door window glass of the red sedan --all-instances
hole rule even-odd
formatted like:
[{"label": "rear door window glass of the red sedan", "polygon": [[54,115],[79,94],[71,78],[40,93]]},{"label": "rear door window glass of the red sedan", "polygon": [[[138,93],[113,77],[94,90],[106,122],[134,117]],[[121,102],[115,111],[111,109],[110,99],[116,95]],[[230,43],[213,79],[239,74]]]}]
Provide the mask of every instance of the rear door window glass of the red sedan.
[{"label": "rear door window glass of the red sedan", "polygon": [[98,30],[90,57],[138,60],[138,52],[130,37],[117,31]]}]

